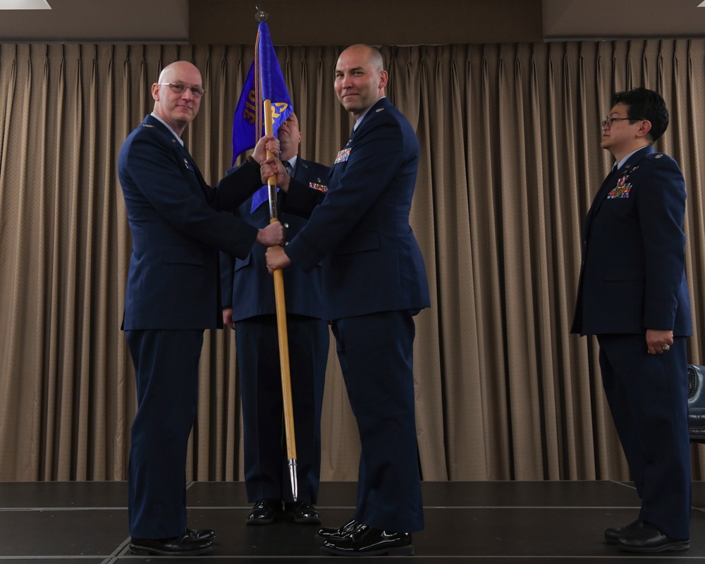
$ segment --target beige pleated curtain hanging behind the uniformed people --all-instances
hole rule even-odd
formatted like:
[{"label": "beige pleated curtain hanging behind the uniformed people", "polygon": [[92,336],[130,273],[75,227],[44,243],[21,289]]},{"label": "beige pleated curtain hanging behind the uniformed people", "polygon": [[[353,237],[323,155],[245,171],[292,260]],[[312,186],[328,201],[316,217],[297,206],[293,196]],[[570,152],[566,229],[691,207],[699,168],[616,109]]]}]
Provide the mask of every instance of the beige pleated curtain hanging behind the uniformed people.
[{"label": "beige pleated curtain hanging behind the uniformed people", "polygon": [[[301,154],[326,164],[352,125],[333,94],[340,50],[276,48]],[[382,51],[388,95],[421,145],[412,227],[432,302],[416,318],[423,478],[628,479],[596,342],[569,334],[584,216],[611,166],[599,124],[615,90],[666,98],[671,123],[656,148],[687,181],[689,361],[705,362],[705,42]],[[117,154],[151,111],[161,68],[190,60],[207,93],[185,143],[216,183],[252,56],[0,44],[0,480],[125,479],[135,382],[119,330],[130,231]],[[236,364],[233,333],[207,331],[190,479],[243,479]],[[333,349],[323,422],[323,479],[356,479],[357,429]],[[699,447],[692,460],[702,479]]]}]

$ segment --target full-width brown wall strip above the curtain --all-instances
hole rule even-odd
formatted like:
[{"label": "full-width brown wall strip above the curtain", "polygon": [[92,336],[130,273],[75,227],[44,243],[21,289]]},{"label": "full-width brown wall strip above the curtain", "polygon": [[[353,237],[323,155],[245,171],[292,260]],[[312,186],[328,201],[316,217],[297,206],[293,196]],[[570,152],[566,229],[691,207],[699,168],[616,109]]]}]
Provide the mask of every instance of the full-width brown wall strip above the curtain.
[{"label": "full-width brown wall strip above the curtain", "polygon": [[[49,0],[2,11],[2,42],[434,45],[705,37],[702,0]],[[638,6],[638,8],[635,8]]]}]

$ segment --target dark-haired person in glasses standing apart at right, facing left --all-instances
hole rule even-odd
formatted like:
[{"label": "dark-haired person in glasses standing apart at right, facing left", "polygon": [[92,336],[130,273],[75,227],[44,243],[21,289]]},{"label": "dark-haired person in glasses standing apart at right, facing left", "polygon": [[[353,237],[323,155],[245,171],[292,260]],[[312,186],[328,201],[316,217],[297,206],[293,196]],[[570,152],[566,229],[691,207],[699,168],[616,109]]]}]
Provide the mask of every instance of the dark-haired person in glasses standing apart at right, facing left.
[{"label": "dark-haired person in glasses standing apart at right, facing left", "polygon": [[602,122],[615,166],[585,220],[572,332],[596,335],[622,447],[642,499],[637,520],[605,531],[625,551],[680,551],[690,537],[685,180],[652,145],[668,109],[652,90],[618,92]]}]

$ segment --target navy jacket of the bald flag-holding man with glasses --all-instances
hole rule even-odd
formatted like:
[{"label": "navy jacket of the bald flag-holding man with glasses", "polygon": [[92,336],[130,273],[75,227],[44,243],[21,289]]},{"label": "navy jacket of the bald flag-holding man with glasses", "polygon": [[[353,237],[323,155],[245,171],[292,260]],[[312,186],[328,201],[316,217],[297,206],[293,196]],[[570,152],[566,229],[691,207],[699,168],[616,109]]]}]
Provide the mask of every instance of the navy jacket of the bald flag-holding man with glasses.
[{"label": "navy jacket of the bald flag-holding man with glasses", "polygon": [[210,187],[150,115],[125,140],[118,176],[133,238],[123,329],[223,326],[218,250],[244,258],[255,243],[257,228],[233,210],[252,195],[259,171],[243,166]]}]

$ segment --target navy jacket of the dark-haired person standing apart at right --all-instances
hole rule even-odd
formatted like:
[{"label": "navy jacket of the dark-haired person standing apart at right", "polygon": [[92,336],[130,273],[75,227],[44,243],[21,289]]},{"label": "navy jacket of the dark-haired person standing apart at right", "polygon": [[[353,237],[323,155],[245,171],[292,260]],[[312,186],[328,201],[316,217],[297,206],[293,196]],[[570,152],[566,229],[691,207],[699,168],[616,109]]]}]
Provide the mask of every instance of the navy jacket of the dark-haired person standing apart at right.
[{"label": "navy jacket of the dark-haired person standing apart at right", "polygon": [[680,168],[651,145],[608,176],[585,220],[573,333],[692,333],[684,216]]}]

